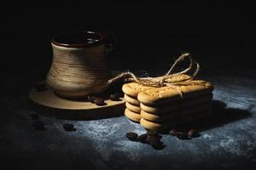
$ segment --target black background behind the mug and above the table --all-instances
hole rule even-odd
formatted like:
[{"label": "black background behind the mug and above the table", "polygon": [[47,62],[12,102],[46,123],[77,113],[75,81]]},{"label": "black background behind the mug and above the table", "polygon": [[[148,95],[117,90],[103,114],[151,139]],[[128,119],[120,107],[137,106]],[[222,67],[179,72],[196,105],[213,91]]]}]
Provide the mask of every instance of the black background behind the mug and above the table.
[{"label": "black background behind the mug and above the table", "polygon": [[[117,46],[110,62],[127,70],[137,67],[135,60],[146,70],[166,67],[186,51],[202,58],[230,49],[250,51],[255,46],[253,11],[251,3],[218,1],[9,2],[1,5],[0,42],[2,54],[8,54],[2,68],[9,72],[39,64],[47,71],[51,38],[84,29],[113,31]],[[231,59],[240,62],[241,54]]]}]

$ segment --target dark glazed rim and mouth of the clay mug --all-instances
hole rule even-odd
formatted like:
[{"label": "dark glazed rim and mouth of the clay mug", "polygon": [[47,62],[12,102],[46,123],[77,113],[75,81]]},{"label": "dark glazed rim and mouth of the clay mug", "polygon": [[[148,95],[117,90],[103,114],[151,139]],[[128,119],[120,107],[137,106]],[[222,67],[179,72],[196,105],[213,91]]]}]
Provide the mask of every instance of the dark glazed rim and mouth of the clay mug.
[{"label": "dark glazed rim and mouth of the clay mug", "polygon": [[[68,38],[74,36],[80,35],[83,37],[83,35],[91,36],[91,37],[96,37],[97,41],[96,42],[75,42],[75,40],[67,40]],[[65,40],[65,38],[67,38]],[[66,47],[66,48],[87,48],[87,47],[92,47],[96,45],[103,44],[107,39],[107,37],[100,31],[65,31],[60,34],[55,35],[51,42],[57,46],[61,47]],[[73,41],[73,42],[72,42]]]}]

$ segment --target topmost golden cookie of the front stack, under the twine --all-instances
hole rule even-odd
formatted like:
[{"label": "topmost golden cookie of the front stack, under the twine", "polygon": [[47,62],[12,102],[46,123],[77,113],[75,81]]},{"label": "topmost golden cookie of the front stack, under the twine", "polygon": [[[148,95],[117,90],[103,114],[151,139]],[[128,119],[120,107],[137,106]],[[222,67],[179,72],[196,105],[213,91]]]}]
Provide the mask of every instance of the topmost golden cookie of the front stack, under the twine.
[{"label": "topmost golden cookie of the front stack, under the twine", "polygon": [[178,89],[183,93],[183,98],[176,88],[162,87],[144,90],[137,95],[137,99],[145,105],[163,105],[181,99],[189,99],[203,94],[211,94],[213,90],[212,84],[210,82],[204,83],[204,85],[180,86]]}]

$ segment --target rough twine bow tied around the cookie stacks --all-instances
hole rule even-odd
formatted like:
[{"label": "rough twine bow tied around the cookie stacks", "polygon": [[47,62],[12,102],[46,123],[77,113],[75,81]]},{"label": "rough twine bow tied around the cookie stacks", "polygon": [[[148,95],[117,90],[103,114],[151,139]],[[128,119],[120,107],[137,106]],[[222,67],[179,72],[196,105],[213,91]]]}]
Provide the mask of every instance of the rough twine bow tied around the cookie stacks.
[{"label": "rough twine bow tied around the cookie stacks", "polygon": [[[185,59],[189,59],[189,67],[184,69],[183,71],[171,74],[172,71],[177,67],[177,65],[183,62]],[[175,77],[179,77],[180,75],[191,71],[194,65],[195,71],[193,72],[191,77],[175,79]],[[118,76],[108,80],[108,85],[112,84],[113,82],[116,82],[119,79],[128,78],[128,82],[137,82],[138,84],[141,84],[143,86],[151,86],[156,88],[164,86],[172,87],[174,89],[177,89],[178,93],[181,95],[181,97],[183,97],[182,91],[179,89],[181,86],[205,85],[204,81],[194,80],[195,76],[198,74],[199,69],[200,65],[192,59],[191,54],[186,53],[179,56],[177,60],[174,62],[174,64],[171,66],[169,71],[167,71],[166,75],[162,77],[136,77],[132,72],[128,71],[123,72]]]}]

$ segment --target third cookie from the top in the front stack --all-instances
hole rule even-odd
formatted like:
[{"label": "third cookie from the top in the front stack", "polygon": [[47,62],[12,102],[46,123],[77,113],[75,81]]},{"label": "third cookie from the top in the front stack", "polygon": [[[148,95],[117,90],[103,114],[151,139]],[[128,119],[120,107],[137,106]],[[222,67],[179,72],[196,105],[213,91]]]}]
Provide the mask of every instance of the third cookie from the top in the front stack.
[{"label": "third cookie from the top in the front stack", "polygon": [[184,117],[192,116],[201,111],[206,111],[206,110],[210,111],[211,106],[212,106],[211,103],[207,102],[204,105],[193,105],[189,107],[184,107],[182,111],[175,110],[175,111],[165,112],[162,114],[152,114],[142,110],[141,116],[143,117],[143,119],[150,122],[166,122],[170,119],[176,118],[177,116],[184,116]]}]

